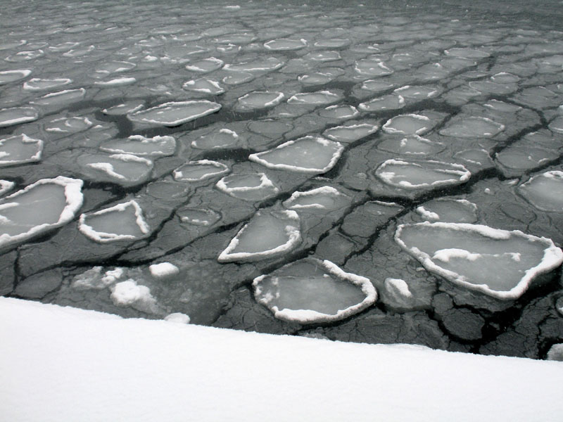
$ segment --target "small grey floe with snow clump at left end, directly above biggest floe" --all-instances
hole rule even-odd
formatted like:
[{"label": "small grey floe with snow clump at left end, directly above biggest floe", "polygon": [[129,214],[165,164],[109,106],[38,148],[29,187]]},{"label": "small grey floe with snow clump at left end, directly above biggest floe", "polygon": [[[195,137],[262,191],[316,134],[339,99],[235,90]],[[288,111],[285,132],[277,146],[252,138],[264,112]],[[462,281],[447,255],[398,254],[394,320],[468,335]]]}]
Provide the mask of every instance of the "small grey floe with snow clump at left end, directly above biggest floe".
[{"label": "small grey floe with snow clump at left end, directly above biggest floe", "polygon": [[477,221],[477,205],[465,199],[434,199],[419,205],[416,211],[430,222],[474,223]]}]

